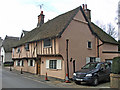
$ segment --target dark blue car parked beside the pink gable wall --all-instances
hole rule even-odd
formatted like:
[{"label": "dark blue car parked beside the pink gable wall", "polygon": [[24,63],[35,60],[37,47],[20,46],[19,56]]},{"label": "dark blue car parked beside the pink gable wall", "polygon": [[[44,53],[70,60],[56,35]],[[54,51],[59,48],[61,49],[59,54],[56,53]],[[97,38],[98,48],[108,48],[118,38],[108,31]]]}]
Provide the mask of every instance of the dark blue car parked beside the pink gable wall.
[{"label": "dark blue car parked beside the pink gable wall", "polygon": [[107,62],[88,63],[73,74],[73,80],[76,83],[87,82],[96,86],[100,81],[110,80],[110,66]]}]

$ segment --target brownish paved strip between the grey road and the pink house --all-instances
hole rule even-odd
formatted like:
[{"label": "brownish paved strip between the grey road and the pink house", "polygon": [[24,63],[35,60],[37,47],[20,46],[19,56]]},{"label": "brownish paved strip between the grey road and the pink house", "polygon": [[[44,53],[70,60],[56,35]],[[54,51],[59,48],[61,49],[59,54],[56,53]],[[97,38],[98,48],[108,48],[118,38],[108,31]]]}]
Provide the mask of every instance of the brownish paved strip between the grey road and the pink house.
[{"label": "brownish paved strip between the grey road and the pink house", "polygon": [[[9,67],[5,67],[5,69],[10,71]],[[35,74],[27,73],[27,72],[23,72],[23,74],[21,74],[20,71],[17,71],[13,68],[12,68],[12,71],[10,71],[10,72],[13,72],[18,75],[22,75],[26,78],[29,78],[29,79],[37,81],[37,82],[46,83],[51,86],[56,86],[58,88],[110,88],[110,82],[100,83],[97,86],[90,86],[90,85],[87,85],[86,83],[77,85],[73,81],[71,81],[70,83],[65,83],[63,80],[52,78],[52,77],[48,77],[48,81],[45,81],[45,76],[35,75]]]}]

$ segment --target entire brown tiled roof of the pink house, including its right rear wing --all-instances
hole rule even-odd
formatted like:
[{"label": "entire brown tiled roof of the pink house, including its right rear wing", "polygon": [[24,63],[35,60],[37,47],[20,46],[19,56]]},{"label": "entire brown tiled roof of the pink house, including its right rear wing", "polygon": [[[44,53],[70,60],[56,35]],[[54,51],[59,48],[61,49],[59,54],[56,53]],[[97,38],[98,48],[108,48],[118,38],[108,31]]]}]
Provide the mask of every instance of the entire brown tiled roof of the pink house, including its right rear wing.
[{"label": "entire brown tiled roof of the pink house, including its right rear wing", "polygon": [[[28,32],[23,38],[21,38],[20,41],[16,43],[14,47],[18,47],[29,42],[43,40],[46,38],[60,37],[79,10],[82,11],[84,17],[86,18],[86,21],[88,22],[88,19],[85,16],[82,7],[80,6],[74,10],[59,15],[53,18],[52,20],[49,20],[48,22],[44,23],[41,27],[35,28],[32,31]],[[113,39],[110,35],[106,34],[95,24],[90,23],[88,23],[88,26],[91,32],[97,35],[103,42],[117,44],[117,41]]]}]

